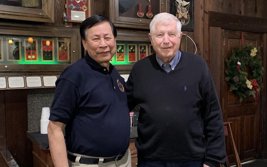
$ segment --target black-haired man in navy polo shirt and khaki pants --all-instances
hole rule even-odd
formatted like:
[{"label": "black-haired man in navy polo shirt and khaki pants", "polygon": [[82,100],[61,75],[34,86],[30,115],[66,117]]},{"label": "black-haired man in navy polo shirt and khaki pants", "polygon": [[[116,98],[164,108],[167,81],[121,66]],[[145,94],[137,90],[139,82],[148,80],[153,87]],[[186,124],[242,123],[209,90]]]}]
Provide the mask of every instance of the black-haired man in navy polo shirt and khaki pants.
[{"label": "black-haired man in navy polo shirt and khaki pants", "polygon": [[130,167],[125,82],[109,63],[116,52],[115,26],[105,16],[92,16],[82,22],[80,35],[87,54],[56,81],[48,125],[54,165]]}]

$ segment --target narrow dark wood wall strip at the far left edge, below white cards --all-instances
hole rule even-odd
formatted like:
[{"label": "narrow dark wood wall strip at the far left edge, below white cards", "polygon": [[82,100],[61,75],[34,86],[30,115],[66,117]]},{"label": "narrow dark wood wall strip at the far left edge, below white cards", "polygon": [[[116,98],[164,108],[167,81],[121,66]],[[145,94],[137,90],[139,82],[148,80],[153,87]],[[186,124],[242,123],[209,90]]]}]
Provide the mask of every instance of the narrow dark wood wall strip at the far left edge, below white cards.
[{"label": "narrow dark wood wall strip at the far left edge, below white cards", "polygon": [[[5,91],[0,91],[0,150],[6,149]],[[1,153],[0,153],[1,156]]]}]

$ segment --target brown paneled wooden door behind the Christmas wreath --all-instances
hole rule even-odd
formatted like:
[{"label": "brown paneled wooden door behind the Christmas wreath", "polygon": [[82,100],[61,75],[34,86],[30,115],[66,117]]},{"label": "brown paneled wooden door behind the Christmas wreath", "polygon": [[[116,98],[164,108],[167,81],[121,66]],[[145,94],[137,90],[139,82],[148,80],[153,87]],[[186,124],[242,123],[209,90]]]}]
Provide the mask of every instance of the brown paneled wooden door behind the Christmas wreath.
[{"label": "brown paneled wooden door behind the Christmas wreath", "polygon": [[[223,33],[224,43],[224,58],[229,59],[232,55],[232,50],[241,46],[241,32],[228,31]],[[244,44],[252,43],[254,47],[262,46],[263,34],[261,33],[243,33]],[[225,71],[225,63],[224,69]],[[223,79],[226,77],[224,74]],[[239,102],[239,97],[232,91],[229,91],[229,86],[224,82],[224,102],[221,103],[223,108],[224,122],[233,122],[232,131],[237,150],[239,152],[240,160],[251,160],[260,156],[260,105],[261,99],[258,99],[258,104],[254,105],[254,98],[246,98]],[[234,162],[233,150],[231,143],[226,140],[226,151],[230,163]]]}]

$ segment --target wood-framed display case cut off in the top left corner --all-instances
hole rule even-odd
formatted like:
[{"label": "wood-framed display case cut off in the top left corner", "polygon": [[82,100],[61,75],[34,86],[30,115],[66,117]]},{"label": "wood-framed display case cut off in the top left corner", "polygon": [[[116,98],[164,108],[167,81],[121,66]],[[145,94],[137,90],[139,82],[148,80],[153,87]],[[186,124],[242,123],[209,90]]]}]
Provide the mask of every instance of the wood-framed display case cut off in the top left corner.
[{"label": "wood-framed display case cut off in the top left corner", "polygon": [[0,18],[54,23],[54,0],[2,0]]}]

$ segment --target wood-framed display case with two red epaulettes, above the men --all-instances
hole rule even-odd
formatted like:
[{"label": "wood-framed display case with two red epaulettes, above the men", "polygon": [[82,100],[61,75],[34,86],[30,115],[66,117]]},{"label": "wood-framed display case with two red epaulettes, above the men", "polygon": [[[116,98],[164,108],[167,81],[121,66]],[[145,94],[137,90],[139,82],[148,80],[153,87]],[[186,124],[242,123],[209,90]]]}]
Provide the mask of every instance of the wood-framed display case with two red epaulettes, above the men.
[{"label": "wood-framed display case with two red epaulettes, above the men", "polygon": [[110,20],[118,27],[149,29],[154,15],[168,12],[167,0],[109,0]]}]

